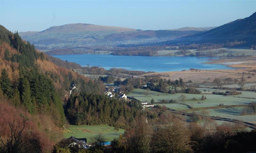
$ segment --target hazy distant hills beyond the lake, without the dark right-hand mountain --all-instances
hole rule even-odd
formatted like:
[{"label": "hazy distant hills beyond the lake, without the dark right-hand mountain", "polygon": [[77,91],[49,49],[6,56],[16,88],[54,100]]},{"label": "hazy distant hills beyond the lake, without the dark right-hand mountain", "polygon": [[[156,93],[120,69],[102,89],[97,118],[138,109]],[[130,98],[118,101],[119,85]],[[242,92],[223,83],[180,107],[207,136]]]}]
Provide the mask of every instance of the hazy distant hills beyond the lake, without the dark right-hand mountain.
[{"label": "hazy distant hills beyond the lake, without the dark right-hand mountain", "polygon": [[207,31],[214,27],[194,28],[184,27],[172,30],[140,30],[123,27],[103,26],[94,24],[65,24],[50,27],[44,31],[20,32],[20,36],[34,44],[58,44],[85,42],[117,42],[174,39],[176,37],[191,35]]}]

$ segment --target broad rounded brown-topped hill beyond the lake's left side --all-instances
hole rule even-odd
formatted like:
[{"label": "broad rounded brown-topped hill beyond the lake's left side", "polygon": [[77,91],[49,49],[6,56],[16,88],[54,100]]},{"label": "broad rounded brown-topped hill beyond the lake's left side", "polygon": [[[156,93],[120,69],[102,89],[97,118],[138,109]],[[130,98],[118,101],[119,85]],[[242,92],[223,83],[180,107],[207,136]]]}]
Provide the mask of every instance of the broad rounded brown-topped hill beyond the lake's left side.
[{"label": "broad rounded brown-topped hill beyond the lake's left side", "polygon": [[22,38],[34,44],[49,45],[59,43],[82,43],[85,41],[96,41],[103,39],[105,35],[111,33],[131,32],[137,31],[131,28],[76,23],[54,26],[44,31],[35,32],[27,35],[22,34]]}]

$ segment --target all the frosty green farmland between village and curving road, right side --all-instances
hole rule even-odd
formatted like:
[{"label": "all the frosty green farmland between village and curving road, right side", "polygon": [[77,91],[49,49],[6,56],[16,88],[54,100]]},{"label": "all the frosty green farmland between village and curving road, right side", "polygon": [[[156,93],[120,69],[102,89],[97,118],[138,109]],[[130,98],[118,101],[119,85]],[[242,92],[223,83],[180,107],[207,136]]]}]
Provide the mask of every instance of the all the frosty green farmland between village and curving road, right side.
[{"label": "all the frosty green farmland between village and curving road, right side", "polygon": [[[223,96],[223,95],[214,95],[211,94],[213,91],[218,92],[226,92],[227,90],[216,90],[212,88],[197,88],[202,92],[202,94],[184,94],[186,95],[186,99],[184,101],[185,104],[188,104],[193,107],[193,109],[199,109],[200,110],[193,110],[196,113],[200,113],[202,109],[209,112],[209,116],[220,116],[230,119],[238,119],[242,121],[247,122],[256,122],[256,116],[255,115],[247,115],[242,116],[241,113],[245,106],[241,105],[247,105],[251,102],[256,102],[256,94],[255,92],[248,92],[248,91],[242,91],[242,94],[234,95],[234,96]],[[178,100],[178,97],[181,95],[179,94],[164,94],[156,91],[150,91],[150,95],[145,96],[145,91],[143,89],[134,89],[131,91],[128,96],[134,97],[138,100],[142,101],[148,101],[150,102],[151,99],[155,99],[157,101],[164,100],[176,100],[177,102],[181,102]],[[204,95],[207,97],[205,100],[201,100],[201,96]],[[240,98],[242,97],[242,98]],[[195,98],[196,100],[192,99]],[[165,105],[167,108],[182,111],[186,110],[186,112],[192,112],[190,108],[188,108],[185,105],[177,104],[177,103],[155,103],[158,105]],[[220,104],[223,104],[224,107],[227,106],[227,108],[218,108]],[[240,106],[229,106],[229,105],[240,105]],[[205,108],[204,108],[205,107]],[[209,109],[208,107],[217,107]]]}]

